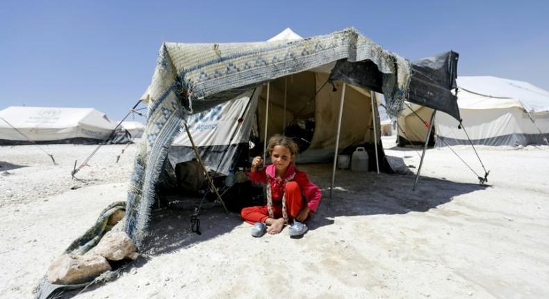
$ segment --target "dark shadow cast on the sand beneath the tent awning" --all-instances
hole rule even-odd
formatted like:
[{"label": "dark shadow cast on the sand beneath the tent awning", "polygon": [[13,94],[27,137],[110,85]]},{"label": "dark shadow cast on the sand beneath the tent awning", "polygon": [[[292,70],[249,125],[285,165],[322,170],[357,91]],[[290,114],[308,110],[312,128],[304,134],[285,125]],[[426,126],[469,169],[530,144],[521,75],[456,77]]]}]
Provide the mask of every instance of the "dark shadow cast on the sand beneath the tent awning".
[{"label": "dark shadow cast on the sand beneath the tent awning", "polygon": [[[331,225],[334,223],[334,218],[341,216],[425,212],[450,202],[458,195],[489,187],[420,176],[416,191],[412,191],[415,176],[410,174],[388,175],[381,173],[377,175],[375,172],[357,173],[350,170],[338,170],[334,191],[332,197],[329,198],[331,165],[314,164],[298,165],[297,167],[306,172],[311,181],[324,190],[320,207],[309,221],[309,230],[311,231]],[[149,257],[177,252],[182,248],[231,232],[235,227],[243,224],[238,213],[227,214],[221,207],[215,207],[202,210],[200,215],[202,234],[196,234],[191,231],[190,216],[192,216],[192,211],[188,209],[154,211],[149,225],[149,235],[145,239],[145,246],[141,248],[142,255],[133,264],[124,268],[122,273],[129,272],[132,267],[144,266]],[[248,234],[249,230],[238,232]],[[252,237],[250,236],[250,238]],[[100,285],[89,286],[85,291],[97,287]],[[70,298],[79,292],[64,293],[63,298]]]}]

